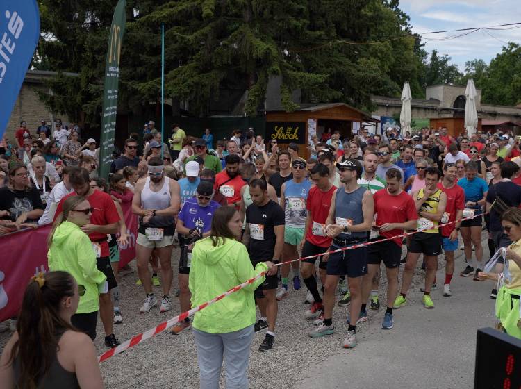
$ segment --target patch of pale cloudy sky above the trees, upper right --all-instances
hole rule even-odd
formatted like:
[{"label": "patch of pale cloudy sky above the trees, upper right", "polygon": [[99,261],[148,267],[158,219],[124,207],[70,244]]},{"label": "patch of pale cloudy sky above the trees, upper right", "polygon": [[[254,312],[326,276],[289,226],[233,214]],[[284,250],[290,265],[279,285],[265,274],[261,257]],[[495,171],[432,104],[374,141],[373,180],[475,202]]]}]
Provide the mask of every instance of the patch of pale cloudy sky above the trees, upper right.
[{"label": "patch of pale cloudy sky above the trees, upper right", "polygon": [[[414,33],[497,26],[521,22],[520,0],[401,0],[400,8],[411,17]],[[465,61],[476,58],[487,64],[502,51],[506,42],[521,44],[520,28],[477,31],[452,40],[427,40],[457,35],[457,32],[423,35],[425,49],[447,54],[451,62],[465,70]]]}]

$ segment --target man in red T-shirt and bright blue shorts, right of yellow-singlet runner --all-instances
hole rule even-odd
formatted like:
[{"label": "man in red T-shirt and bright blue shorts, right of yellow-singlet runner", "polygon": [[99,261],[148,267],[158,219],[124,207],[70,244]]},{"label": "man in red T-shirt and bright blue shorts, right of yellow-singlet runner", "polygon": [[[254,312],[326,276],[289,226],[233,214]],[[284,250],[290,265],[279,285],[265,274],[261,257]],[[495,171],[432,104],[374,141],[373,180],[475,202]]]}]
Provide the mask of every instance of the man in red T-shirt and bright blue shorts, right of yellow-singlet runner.
[{"label": "man in red T-shirt and bright blue shorts, right of yellow-singlet runner", "polygon": [[[441,220],[442,224],[460,220],[465,208],[465,191],[457,185],[458,169],[454,163],[446,163],[443,167],[443,179],[438,182],[438,189],[447,195],[447,206]],[[441,227],[443,251],[445,251],[445,283],[443,284],[443,295],[449,297],[450,281],[454,273],[454,251],[458,249],[458,232],[461,222]]]}]

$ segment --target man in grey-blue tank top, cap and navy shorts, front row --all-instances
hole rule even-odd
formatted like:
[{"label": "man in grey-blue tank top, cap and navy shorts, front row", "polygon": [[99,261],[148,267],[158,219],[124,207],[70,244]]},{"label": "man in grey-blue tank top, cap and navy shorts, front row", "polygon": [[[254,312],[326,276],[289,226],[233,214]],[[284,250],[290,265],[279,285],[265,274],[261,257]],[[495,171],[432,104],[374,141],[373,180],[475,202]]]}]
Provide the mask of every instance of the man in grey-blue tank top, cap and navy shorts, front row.
[{"label": "man in grey-blue tank top, cap and navy shorts, front row", "polygon": [[[374,201],[372,193],[367,188],[358,185],[356,180],[362,174],[362,165],[358,160],[349,158],[343,163],[337,163],[341,182],[345,188],[338,188],[333,194],[331,208],[326,220],[327,235],[333,238],[330,250],[359,245],[367,241],[373,220]],[[367,247],[347,249],[331,255],[324,255],[327,261],[326,285],[324,288],[324,320],[317,323],[318,327],[309,333],[311,338],[331,335],[335,332],[333,326],[333,306],[335,290],[340,276],[347,274],[349,292],[351,292],[350,315],[347,318],[349,328],[343,346],[352,348],[356,345],[356,324],[365,320],[358,319],[362,305],[362,277],[367,273]],[[364,304],[365,305],[365,304]]]}]

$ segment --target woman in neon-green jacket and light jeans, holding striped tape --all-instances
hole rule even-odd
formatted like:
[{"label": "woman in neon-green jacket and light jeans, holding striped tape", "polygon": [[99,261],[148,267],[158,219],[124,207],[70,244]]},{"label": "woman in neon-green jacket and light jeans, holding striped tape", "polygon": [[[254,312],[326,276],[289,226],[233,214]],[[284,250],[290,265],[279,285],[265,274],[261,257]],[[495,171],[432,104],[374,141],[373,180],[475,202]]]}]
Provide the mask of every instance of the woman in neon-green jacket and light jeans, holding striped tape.
[{"label": "woman in neon-green jacket and light jeans, holding striped tape", "polygon": [[[251,265],[245,245],[238,240],[242,219],[235,208],[215,211],[210,236],[195,243],[188,286],[192,306],[203,304],[257,274],[267,272],[273,264]],[[226,361],[226,388],[248,388],[249,349],[254,338],[254,290],[264,276],[245,288],[195,313],[201,389],[219,387],[222,360]]]}]

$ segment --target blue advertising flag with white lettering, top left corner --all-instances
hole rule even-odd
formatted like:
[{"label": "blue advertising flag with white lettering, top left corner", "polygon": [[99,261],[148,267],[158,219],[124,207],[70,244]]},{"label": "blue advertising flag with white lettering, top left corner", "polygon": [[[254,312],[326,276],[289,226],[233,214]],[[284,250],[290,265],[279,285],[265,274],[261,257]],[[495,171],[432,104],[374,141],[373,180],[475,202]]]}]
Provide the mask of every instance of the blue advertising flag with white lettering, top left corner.
[{"label": "blue advertising flag with white lettering, top left corner", "polygon": [[0,140],[39,38],[36,0],[0,1]]}]

